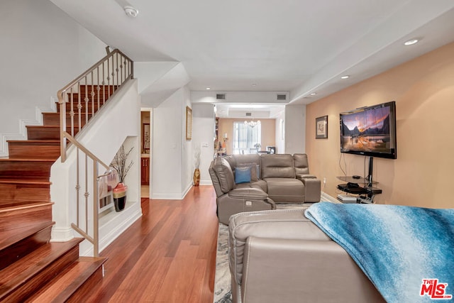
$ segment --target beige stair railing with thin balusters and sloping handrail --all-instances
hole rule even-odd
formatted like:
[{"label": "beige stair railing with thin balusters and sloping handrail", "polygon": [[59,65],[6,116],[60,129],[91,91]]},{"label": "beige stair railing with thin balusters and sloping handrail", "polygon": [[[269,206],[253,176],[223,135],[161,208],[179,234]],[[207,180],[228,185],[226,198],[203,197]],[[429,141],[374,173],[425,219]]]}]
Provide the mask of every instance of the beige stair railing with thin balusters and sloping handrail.
[{"label": "beige stair railing with thin balusters and sloping handrail", "polygon": [[[72,82],[57,92],[58,104],[60,109],[60,159],[61,162],[67,160],[67,142],[71,143],[76,149],[76,203],[77,203],[77,222],[71,224],[75,231],[93,244],[93,254],[99,255],[99,181],[101,177],[106,177],[112,173],[109,165],[106,165],[90,150],[77,141],[76,133],[82,130],[82,121],[89,122],[89,116],[94,116],[96,111],[103,106],[109,97],[115,94],[128,80],[133,79],[133,61],[121,53],[120,50],[113,50],[96,62],[87,71],[83,72]],[[95,92],[96,90],[96,92]],[[84,96],[82,96],[82,94]],[[82,98],[83,97],[83,98]],[[89,110],[91,108],[91,110]],[[67,109],[69,111],[67,111]],[[70,128],[67,128],[67,114],[70,114]],[[77,118],[77,119],[74,119]],[[76,126],[77,124],[77,126]],[[80,160],[79,151],[84,153],[84,160]],[[92,160],[93,172],[89,173],[88,159]],[[84,161],[84,163],[82,163]],[[106,173],[99,175],[99,165],[106,168]],[[84,167],[82,171],[79,169]],[[82,175],[82,180],[81,179]],[[89,192],[89,180],[92,178],[92,192]],[[81,182],[82,181],[82,182]],[[84,190],[84,205],[80,202]],[[89,196],[92,195],[93,207],[93,236],[89,234]],[[84,224],[81,224],[79,209],[84,209],[82,217]],[[81,227],[84,226],[84,228]]]}]

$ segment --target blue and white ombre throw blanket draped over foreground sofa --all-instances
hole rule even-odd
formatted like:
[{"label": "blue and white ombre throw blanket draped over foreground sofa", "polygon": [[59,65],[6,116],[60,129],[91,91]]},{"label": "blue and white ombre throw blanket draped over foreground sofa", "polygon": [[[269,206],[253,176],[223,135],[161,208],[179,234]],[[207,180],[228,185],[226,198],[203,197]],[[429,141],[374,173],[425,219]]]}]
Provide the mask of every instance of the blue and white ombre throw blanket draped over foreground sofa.
[{"label": "blue and white ombre throw blanket draped over foreground sofa", "polygon": [[320,202],[305,215],[387,302],[454,302],[454,209]]}]

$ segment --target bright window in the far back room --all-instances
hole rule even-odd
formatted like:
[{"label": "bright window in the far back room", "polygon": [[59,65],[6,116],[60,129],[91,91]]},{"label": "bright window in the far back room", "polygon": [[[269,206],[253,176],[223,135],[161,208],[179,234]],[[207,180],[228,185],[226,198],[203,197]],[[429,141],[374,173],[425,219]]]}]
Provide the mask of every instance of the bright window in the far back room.
[{"label": "bright window in the far back room", "polygon": [[261,145],[262,126],[259,124],[254,127],[245,125],[244,122],[233,122],[233,153],[257,153]]}]

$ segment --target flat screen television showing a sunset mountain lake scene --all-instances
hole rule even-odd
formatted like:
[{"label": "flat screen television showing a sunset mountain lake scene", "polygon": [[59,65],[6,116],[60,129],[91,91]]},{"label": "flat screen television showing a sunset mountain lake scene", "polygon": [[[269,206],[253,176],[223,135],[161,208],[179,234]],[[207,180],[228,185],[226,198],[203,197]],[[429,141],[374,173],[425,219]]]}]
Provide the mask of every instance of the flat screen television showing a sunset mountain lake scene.
[{"label": "flat screen television showing a sunset mountain lake scene", "polygon": [[341,153],[397,158],[396,102],[340,114]]}]

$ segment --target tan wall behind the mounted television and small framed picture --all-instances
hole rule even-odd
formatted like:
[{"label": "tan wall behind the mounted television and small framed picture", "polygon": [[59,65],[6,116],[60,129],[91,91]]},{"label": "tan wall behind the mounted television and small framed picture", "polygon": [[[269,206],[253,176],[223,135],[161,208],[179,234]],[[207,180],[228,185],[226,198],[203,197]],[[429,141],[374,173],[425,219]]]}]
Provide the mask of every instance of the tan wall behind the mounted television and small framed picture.
[{"label": "tan wall behind the mounted television and small framed picture", "polygon": [[[418,45],[414,45],[418,47]],[[306,153],[324,192],[341,193],[347,175],[365,175],[365,157],[340,152],[339,113],[396,101],[397,160],[374,158],[380,204],[454,208],[454,43],[366,79],[306,107]],[[352,75],[354,79],[355,75]],[[315,119],[328,115],[328,139],[315,139]],[[367,167],[367,166],[366,166]]]}]

